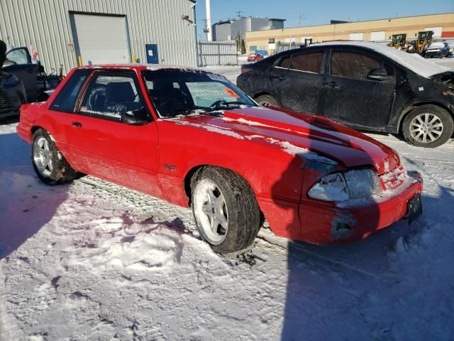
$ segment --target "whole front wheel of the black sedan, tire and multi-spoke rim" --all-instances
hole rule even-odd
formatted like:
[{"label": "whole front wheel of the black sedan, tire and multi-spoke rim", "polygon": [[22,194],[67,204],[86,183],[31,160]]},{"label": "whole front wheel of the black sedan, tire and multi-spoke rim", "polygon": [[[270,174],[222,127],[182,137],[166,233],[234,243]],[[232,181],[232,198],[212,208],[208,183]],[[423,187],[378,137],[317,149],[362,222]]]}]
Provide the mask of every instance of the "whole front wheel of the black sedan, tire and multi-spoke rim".
[{"label": "whole front wheel of the black sedan, tire and multi-spoke rim", "polygon": [[406,141],[426,148],[441,146],[450,139],[453,131],[453,117],[445,109],[433,104],[412,110],[402,124]]}]

